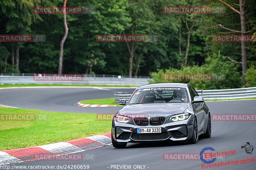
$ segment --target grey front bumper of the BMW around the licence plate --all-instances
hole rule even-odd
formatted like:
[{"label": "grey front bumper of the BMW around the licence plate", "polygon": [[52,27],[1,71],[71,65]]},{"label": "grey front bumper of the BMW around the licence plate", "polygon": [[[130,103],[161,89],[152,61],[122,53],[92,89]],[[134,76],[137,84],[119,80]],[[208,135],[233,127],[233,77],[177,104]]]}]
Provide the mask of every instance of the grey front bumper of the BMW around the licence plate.
[{"label": "grey front bumper of the BMW around the licence plate", "polygon": [[[148,141],[183,141],[189,140],[193,132],[193,115],[182,121],[168,121],[166,118],[162,125],[138,126],[113,121],[112,134],[117,142],[148,142]],[[161,128],[161,133],[137,133],[137,128]],[[132,129],[132,130],[130,130]]]}]

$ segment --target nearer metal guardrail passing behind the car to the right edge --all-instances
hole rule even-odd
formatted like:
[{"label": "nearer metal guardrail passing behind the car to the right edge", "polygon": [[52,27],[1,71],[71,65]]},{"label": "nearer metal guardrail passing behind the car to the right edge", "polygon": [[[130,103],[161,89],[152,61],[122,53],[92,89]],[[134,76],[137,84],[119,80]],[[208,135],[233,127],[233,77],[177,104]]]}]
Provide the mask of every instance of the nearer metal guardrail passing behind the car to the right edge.
[{"label": "nearer metal guardrail passing behind the car to the right edge", "polygon": [[[217,90],[197,90],[198,95],[202,96],[204,100],[214,99],[239,99],[256,97],[256,87],[241,88],[241,89],[217,89]],[[115,103],[120,99],[129,100],[132,94],[115,94]]]}]

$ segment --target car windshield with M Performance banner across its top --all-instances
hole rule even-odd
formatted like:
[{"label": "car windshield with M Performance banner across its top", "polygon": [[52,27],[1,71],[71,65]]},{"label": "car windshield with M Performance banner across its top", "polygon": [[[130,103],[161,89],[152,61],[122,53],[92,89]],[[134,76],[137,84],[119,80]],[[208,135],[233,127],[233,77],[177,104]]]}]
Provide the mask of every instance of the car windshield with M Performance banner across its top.
[{"label": "car windshield with M Performance banner across its top", "polygon": [[184,102],[188,102],[188,93],[185,88],[155,87],[148,89],[137,89],[132,95],[129,104]]}]

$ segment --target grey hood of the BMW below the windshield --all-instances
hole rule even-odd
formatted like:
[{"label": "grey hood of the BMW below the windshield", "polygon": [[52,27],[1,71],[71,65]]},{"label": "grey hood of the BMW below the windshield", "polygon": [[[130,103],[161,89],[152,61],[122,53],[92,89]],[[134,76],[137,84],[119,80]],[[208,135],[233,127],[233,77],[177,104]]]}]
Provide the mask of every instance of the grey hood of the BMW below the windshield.
[{"label": "grey hood of the BMW below the windshield", "polygon": [[119,111],[120,115],[125,116],[135,116],[139,115],[148,115],[153,116],[168,116],[171,114],[183,113],[190,103],[148,103],[148,104],[131,104],[126,105]]}]

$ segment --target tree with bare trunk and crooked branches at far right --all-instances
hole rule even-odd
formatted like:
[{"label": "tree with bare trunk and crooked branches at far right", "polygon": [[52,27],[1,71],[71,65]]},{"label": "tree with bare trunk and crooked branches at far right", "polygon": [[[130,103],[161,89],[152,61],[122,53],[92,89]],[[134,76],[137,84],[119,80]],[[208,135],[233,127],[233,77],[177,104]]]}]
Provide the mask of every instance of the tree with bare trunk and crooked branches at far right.
[{"label": "tree with bare trunk and crooked branches at far right", "polygon": [[[242,4],[242,6],[240,4]],[[255,6],[256,2],[254,0],[247,0],[243,2],[239,2],[238,0],[225,0],[221,1],[212,1],[209,6],[220,6],[224,4],[228,6],[226,8],[225,13],[223,14],[213,14],[213,15],[203,15],[202,20],[200,21],[200,34],[204,36],[208,36],[206,39],[204,51],[210,53],[218,53],[220,52],[223,56],[226,57],[225,60],[231,60],[232,62],[237,63],[239,67],[239,72],[244,74],[247,69],[248,64],[253,64],[253,60],[255,61],[255,52],[253,52],[253,43],[219,43],[219,42],[211,42],[211,35],[214,34],[253,34],[253,31],[256,29],[255,25]],[[236,10],[232,6],[238,6],[240,11]],[[246,8],[246,13],[243,8]],[[235,11],[235,12],[234,12]],[[239,14],[239,15],[237,15]],[[242,14],[242,16],[240,15]],[[241,19],[242,17],[242,19]],[[244,20],[244,21],[243,21]],[[242,22],[241,22],[242,21]],[[245,25],[242,26],[242,25]],[[243,28],[242,28],[243,27]],[[246,28],[249,31],[246,31]],[[244,32],[240,30],[244,30]],[[225,31],[223,31],[225,30]],[[226,31],[228,30],[228,31]],[[251,45],[251,46],[250,46]],[[240,46],[240,48],[237,48]],[[247,51],[246,51],[247,50]],[[250,52],[251,51],[251,52]],[[241,71],[240,71],[241,70]],[[244,77],[244,76],[243,76]],[[245,84],[245,81],[244,81]]]}]

